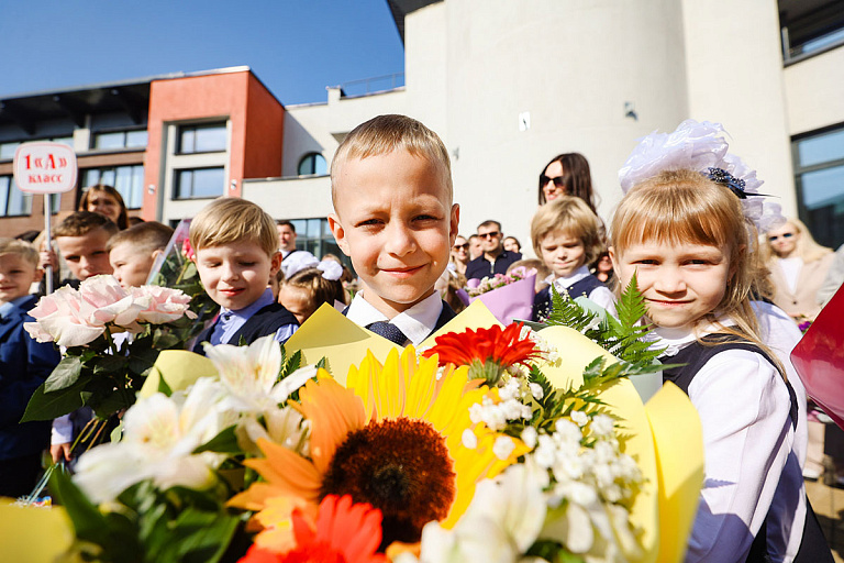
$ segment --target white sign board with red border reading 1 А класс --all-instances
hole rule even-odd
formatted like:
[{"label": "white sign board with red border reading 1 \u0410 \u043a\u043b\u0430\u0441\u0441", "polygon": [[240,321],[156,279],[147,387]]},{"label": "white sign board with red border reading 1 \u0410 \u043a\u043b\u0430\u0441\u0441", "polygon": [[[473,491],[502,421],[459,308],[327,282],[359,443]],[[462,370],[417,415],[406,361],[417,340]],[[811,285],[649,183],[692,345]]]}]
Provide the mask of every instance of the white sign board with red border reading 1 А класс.
[{"label": "white sign board with red border reading 1 \u0410 \u043a\u043b\u0430\u0441\u0441", "polygon": [[76,186],[76,153],[62,143],[22,143],[14,152],[14,181],[21,191],[70,191]]}]

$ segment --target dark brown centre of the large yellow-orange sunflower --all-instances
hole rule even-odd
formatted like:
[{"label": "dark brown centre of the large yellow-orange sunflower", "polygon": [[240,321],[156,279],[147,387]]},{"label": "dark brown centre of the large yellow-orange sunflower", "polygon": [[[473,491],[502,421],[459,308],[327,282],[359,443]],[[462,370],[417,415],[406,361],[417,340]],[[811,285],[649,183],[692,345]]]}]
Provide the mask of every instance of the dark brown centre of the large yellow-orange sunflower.
[{"label": "dark brown centre of the large yellow-orange sunflower", "polygon": [[418,542],[422,527],[442,520],[455,496],[445,440],[427,422],[406,418],[370,422],[337,448],[322,483],[325,495],[352,495],[381,510],[381,548]]}]

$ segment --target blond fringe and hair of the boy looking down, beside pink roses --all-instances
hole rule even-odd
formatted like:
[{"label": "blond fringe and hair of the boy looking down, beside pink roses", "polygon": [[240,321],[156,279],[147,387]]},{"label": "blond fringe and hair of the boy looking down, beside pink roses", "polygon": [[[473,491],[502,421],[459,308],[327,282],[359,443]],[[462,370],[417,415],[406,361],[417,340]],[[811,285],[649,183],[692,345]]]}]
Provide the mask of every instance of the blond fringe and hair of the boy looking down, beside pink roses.
[{"label": "blond fringe and hair of the boy looking down, beside pink roses", "polygon": [[253,242],[269,257],[278,252],[276,222],[256,203],[240,198],[215,199],[190,222],[193,250]]}]

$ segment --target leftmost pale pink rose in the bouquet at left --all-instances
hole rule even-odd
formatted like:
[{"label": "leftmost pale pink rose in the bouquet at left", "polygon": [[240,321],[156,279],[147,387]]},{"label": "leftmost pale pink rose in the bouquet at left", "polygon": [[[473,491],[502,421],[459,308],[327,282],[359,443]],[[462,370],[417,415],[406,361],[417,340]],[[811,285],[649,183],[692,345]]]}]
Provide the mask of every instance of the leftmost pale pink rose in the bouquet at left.
[{"label": "leftmost pale pink rose in the bouquet at left", "polygon": [[35,322],[25,322],[23,328],[38,342],[81,346],[106,332],[104,325],[88,322],[79,291],[68,286],[42,297],[30,316]]}]

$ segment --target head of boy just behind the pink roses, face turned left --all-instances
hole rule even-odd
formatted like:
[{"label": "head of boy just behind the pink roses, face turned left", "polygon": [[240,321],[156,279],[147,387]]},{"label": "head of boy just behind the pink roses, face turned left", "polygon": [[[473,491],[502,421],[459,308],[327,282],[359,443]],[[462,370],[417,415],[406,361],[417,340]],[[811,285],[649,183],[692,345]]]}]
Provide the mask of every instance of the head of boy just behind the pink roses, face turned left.
[{"label": "head of boy just behind the pink roses, face turned left", "polygon": [[164,253],[171,236],[173,229],[166,224],[145,221],[109,239],[109,262],[124,289],[146,284],[155,258]]}]

